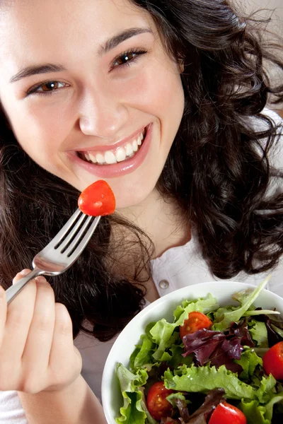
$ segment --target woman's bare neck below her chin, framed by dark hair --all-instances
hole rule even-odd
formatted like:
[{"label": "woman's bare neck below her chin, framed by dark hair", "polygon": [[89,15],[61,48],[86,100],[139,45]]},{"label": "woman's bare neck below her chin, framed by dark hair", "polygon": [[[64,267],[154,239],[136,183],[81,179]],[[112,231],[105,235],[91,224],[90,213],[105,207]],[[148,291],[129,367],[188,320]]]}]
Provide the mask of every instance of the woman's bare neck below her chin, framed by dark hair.
[{"label": "woman's bare neck below her chin, framed by dark hair", "polygon": [[175,201],[163,199],[154,189],[141,204],[120,209],[120,215],[144,230],[154,243],[154,257],[190,240],[190,223],[185,222]]}]

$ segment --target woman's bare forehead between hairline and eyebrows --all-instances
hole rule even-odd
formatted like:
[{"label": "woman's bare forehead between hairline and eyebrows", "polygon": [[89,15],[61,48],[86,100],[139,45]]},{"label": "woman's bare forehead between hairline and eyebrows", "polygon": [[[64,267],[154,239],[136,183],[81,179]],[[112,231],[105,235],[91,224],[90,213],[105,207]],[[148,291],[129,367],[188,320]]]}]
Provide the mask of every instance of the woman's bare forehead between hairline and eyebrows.
[{"label": "woman's bare forehead between hairline and eyebrows", "polygon": [[[6,0],[0,3],[0,64],[79,60],[88,48],[132,27],[154,27],[149,13],[129,0]],[[15,71],[16,69],[11,69]]]}]

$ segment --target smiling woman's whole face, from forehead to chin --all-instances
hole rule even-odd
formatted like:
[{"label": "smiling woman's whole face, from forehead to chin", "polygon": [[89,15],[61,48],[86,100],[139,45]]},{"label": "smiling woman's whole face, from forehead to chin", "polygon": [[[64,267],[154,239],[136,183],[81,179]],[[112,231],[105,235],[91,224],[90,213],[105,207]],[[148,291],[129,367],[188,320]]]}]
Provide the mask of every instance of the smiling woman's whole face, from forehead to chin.
[{"label": "smiling woman's whole face, from forehead to chin", "polygon": [[11,0],[0,9],[0,99],[22,148],[118,208],[156,186],[183,115],[180,66],[128,0]]}]

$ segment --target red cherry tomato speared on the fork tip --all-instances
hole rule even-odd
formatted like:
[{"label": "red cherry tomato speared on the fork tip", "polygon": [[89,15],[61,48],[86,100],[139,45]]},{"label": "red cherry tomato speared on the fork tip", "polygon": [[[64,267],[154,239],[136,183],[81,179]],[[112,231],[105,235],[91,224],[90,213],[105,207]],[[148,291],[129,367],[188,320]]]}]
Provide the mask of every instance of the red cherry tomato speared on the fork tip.
[{"label": "red cherry tomato speared on the fork tip", "polygon": [[116,201],[108,183],[98,179],[81,192],[78,205],[86,215],[105,216],[115,211]]}]

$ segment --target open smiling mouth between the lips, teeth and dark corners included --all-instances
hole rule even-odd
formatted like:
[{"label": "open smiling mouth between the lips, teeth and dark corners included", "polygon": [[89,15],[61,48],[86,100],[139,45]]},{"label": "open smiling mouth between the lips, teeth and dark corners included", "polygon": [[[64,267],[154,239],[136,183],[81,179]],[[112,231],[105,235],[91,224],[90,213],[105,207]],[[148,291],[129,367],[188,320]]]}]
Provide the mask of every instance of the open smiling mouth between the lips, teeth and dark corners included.
[{"label": "open smiling mouth between the lips, teeth and dark corners included", "polygon": [[137,154],[146,138],[147,126],[139,134],[134,136],[132,141],[108,151],[78,151],[76,154],[88,163],[95,165],[112,165],[114,163],[125,162]]}]

